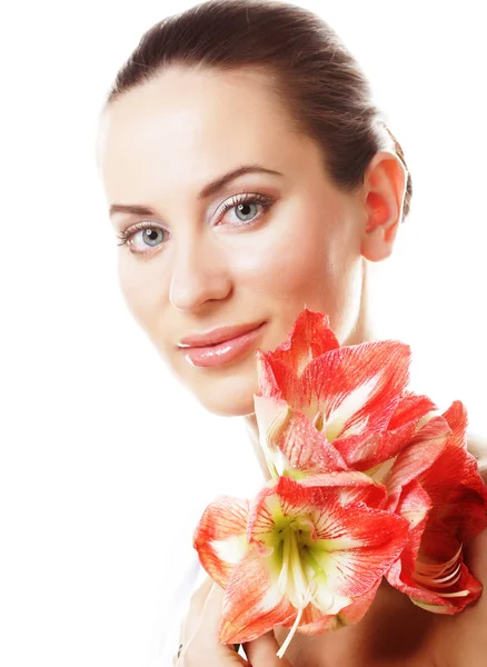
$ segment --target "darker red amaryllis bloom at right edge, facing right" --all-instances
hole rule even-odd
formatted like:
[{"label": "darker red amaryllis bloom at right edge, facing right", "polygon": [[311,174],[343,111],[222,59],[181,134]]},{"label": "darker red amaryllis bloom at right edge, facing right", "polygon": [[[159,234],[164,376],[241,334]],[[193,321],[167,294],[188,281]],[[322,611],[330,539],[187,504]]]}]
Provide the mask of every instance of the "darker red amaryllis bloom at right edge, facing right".
[{"label": "darker red amaryllis bloom at right edge, facing right", "polygon": [[487,488],[467,451],[464,405],[454,401],[443,418],[451,430],[437,456],[428,461],[427,450],[411,446],[396,460],[388,507],[410,529],[387,579],[419,607],[455,614],[481,593],[464,563],[463,546],[487,527]]}]

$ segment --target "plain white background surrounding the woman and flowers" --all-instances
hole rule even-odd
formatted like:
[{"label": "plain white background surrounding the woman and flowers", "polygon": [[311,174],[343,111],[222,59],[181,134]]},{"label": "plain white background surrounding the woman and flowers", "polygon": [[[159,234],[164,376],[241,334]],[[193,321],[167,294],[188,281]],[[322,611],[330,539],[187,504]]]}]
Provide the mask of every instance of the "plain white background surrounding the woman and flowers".
[{"label": "plain white background surrounding the woman and flowers", "polygon": [[[486,432],[483,3],[296,2],[368,74],[413,173],[377,267],[382,337],[414,385]],[[190,532],[258,477],[239,418],[167,376],[116,281],[97,118],[142,32],[191,2],[4,4],[1,48],[0,664],[142,665]]]}]

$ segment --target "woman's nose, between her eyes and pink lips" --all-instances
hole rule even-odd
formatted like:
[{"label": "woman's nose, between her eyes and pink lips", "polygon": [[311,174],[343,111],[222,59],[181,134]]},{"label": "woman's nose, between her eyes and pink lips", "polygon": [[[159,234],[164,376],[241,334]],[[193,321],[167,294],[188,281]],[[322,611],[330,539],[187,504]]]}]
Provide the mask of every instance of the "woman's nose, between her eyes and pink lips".
[{"label": "woman's nose, between her eyes and pink lips", "polygon": [[203,237],[191,235],[175,247],[169,300],[177,310],[197,310],[206,301],[225,299],[231,290],[221,248]]}]

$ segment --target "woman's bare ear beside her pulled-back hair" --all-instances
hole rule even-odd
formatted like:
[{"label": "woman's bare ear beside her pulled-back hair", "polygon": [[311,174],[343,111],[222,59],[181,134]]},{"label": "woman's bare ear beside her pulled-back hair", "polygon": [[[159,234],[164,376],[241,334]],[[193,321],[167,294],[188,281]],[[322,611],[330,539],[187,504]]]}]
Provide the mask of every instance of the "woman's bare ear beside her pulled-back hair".
[{"label": "woman's bare ear beside her pulled-back hair", "polygon": [[396,153],[381,150],[370,160],[364,177],[365,225],[361,255],[380,261],[392,252],[402,218],[407,171]]}]

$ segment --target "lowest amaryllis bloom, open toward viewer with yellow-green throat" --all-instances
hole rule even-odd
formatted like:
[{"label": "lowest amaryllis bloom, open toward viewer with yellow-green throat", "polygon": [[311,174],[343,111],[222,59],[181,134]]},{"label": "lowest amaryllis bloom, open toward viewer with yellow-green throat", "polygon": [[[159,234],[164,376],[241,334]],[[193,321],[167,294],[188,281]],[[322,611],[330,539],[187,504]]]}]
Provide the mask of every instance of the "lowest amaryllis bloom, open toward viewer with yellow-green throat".
[{"label": "lowest amaryllis bloom, open toward viewer with yellow-green throat", "polygon": [[278,477],[250,502],[221,496],[193,537],[225,589],[219,638],[250,641],[277,626],[315,635],[357,623],[401,554],[408,521],[379,509],[386,489],[361,472]]}]

